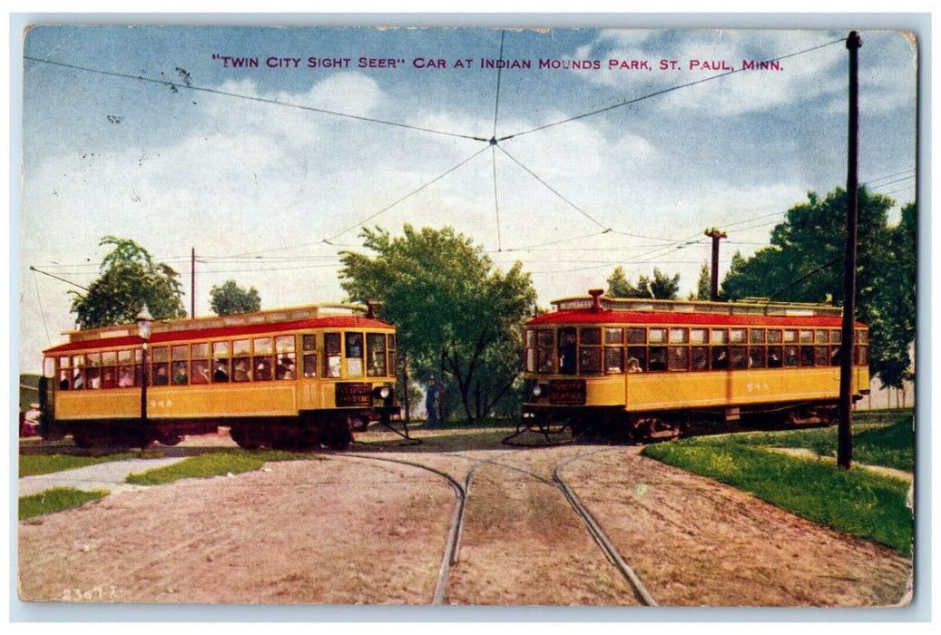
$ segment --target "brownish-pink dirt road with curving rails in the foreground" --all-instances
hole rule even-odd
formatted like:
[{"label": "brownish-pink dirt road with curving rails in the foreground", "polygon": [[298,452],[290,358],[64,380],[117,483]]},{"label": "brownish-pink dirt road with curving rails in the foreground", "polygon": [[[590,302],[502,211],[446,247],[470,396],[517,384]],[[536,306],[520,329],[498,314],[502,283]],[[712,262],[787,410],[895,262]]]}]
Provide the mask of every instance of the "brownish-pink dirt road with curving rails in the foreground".
[{"label": "brownish-pink dirt road with curving rails in the foreground", "polygon": [[247,474],[112,494],[21,522],[20,597],[428,604],[455,492],[428,471],[361,454],[429,466],[458,482],[474,470],[448,604],[636,603],[551,484],[553,469],[569,460],[560,473],[661,606],[904,601],[912,564],[899,553],[643,458],[636,448],[509,450],[500,431],[416,436],[423,445],[355,445]]}]

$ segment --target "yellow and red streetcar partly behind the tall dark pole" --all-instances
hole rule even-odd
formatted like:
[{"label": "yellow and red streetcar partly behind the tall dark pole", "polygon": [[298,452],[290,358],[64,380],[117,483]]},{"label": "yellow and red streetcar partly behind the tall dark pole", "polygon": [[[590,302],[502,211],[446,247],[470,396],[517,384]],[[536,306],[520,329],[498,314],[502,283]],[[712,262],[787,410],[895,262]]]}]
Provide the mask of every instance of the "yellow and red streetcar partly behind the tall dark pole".
[{"label": "yellow and red streetcar partly behind the tall dark pole", "polygon": [[[692,419],[836,420],[840,308],[589,294],[525,325],[526,429],[644,440],[676,437]],[[865,325],[853,340],[857,400],[869,392]]]}]

